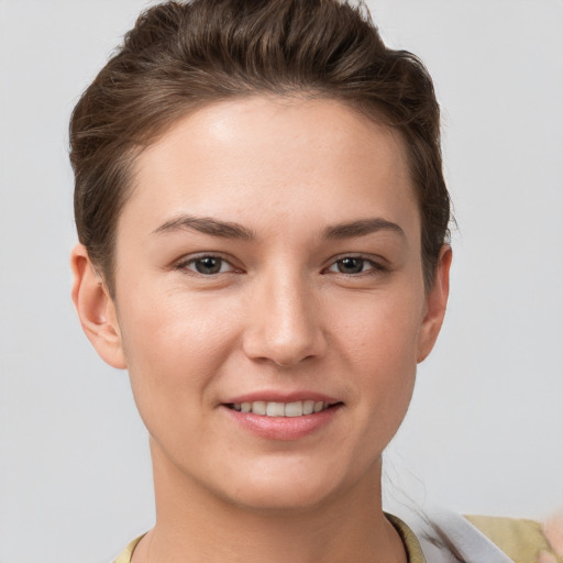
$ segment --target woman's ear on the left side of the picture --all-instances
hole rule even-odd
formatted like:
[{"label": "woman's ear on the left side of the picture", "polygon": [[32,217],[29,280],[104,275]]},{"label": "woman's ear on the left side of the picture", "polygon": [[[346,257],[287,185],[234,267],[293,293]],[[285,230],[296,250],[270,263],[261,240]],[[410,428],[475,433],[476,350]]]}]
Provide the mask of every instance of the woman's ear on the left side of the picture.
[{"label": "woman's ear on the left side of the picture", "polygon": [[73,301],[88,340],[107,364],[124,369],[126,362],[115,305],[82,244],[74,247],[70,264]]}]

